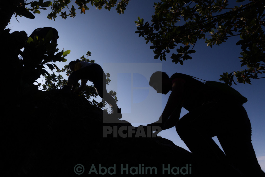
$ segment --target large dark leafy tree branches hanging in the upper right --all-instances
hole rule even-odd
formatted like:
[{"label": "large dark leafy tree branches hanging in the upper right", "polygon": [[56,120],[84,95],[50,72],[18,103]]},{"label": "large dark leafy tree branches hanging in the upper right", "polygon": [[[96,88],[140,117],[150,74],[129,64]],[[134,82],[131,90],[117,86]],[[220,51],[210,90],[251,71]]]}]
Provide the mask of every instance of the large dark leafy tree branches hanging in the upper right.
[{"label": "large dark leafy tree branches hanging in the upper right", "polygon": [[[154,5],[152,23],[144,23],[140,17],[135,21],[135,33],[144,37],[146,44],[151,42],[154,59],[166,60],[166,53],[179,44],[177,53],[173,50],[170,58],[172,62],[183,65],[184,60],[192,59],[189,54],[196,52],[193,48],[197,40],[205,40],[207,46],[212,47],[226,42],[230,37],[240,36],[241,40],[236,45],[242,48],[241,67],[247,66],[249,69],[243,73],[234,72],[238,83],[250,84],[257,74],[265,72],[264,1],[252,0],[234,7],[229,7],[227,0],[161,0]],[[182,23],[178,25],[180,21]],[[188,50],[190,46],[192,49]],[[222,79],[227,81],[231,78],[222,75]]]}]

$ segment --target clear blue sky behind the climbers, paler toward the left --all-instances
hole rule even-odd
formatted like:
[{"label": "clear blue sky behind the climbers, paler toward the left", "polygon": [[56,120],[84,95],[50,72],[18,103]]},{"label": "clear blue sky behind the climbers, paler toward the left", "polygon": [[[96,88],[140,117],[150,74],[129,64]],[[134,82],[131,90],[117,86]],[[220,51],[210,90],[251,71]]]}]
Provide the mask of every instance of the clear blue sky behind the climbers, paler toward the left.
[{"label": "clear blue sky behind the climbers, paler toward the left", "polygon": [[[164,71],[169,76],[175,72],[188,74],[204,80],[218,81],[223,72],[241,70],[239,54],[241,47],[236,46],[238,37],[229,38],[220,46],[207,47],[204,41],[198,41],[195,46],[196,53],[192,54],[192,60],[184,61],[184,65],[171,62],[171,53],[167,54],[166,61],[155,60],[150,43],[145,44],[143,37],[138,37],[134,21],[137,17],[151,22],[154,14],[153,0],[133,0],[129,2],[124,14],[119,15],[113,8],[111,11],[95,9],[94,6],[74,18],[56,20],[47,19],[48,10],[41,10],[41,14],[35,14],[35,19],[12,16],[11,24],[7,28],[14,31],[25,31],[28,36],[39,27],[53,27],[57,29],[59,51],[71,50],[66,57],[67,62],[58,62],[56,65],[63,68],[70,61],[80,59],[86,52],[92,53],[90,59],[100,64],[105,73],[111,74],[111,83],[107,90],[117,92],[118,106],[122,108],[122,120],[127,120],[133,126],[146,125],[155,122],[160,117],[170,92],[167,95],[156,93],[149,86],[149,78],[155,71]],[[158,2],[158,1],[157,1]],[[71,7],[71,5],[69,6]],[[67,8],[63,11],[67,12]],[[68,13],[68,12],[67,12]],[[173,49],[176,53],[176,48]],[[48,67],[46,67],[48,68]],[[245,68],[242,68],[245,69]],[[49,69],[47,69],[50,72]],[[65,76],[63,76],[65,77]],[[264,77],[264,76],[262,76]],[[65,77],[67,78],[67,77]],[[38,79],[42,82],[43,77]],[[43,83],[44,83],[43,79]],[[248,98],[244,107],[248,113],[252,127],[252,143],[259,164],[265,171],[265,79],[252,80],[252,85],[237,84],[233,88]],[[88,83],[92,84],[92,83]],[[232,106],[232,105],[231,105]],[[182,109],[181,117],[187,113]],[[179,138],[175,128],[164,130],[160,136],[173,141],[174,144],[187,149],[187,146]],[[216,137],[213,138],[217,143]],[[218,143],[219,144],[219,143]],[[242,154],[244,155],[244,154]]]}]

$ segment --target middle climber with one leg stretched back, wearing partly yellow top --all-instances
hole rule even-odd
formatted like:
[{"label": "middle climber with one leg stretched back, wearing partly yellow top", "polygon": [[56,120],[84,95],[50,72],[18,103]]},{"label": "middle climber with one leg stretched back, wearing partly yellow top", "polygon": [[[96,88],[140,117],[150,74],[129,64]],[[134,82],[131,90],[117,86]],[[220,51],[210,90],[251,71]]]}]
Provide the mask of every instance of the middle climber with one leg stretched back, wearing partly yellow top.
[{"label": "middle climber with one leg stretched back, wearing partly yellow top", "polygon": [[[66,92],[70,92],[72,87],[72,92],[78,93],[82,91],[86,87],[87,81],[91,81],[94,84],[96,92],[98,95],[103,98],[104,100],[113,108],[113,115],[115,117],[121,119],[121,109],[118,108],[116,101],[114,98],[108,94],[106,89],[106,74],[104,73],[103,69],[99,64],[96,63],[89,63],[89,62],[81,62],[80,60],[71,61],[69,63],[69,68],[72,74],[69,76],[67,80],[67,84],[62,88],[62,90]],[[81,86],[76,90],[76,85],[78,80],[81,79]]]}]

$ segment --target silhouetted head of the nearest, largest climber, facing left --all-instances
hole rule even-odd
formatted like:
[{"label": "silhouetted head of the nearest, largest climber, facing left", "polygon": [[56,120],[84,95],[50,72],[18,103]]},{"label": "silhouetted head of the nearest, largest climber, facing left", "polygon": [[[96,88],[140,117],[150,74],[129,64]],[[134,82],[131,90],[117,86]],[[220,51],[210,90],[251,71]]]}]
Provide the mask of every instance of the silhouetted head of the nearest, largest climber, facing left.
[{"label": "silhouetted head of the nearest, largest climber, facing left", "polygon": [[162,71],[156,71],[150,77],[149,85],[153,87],[157,93],[167,94],[172,89],[169,76]]}]

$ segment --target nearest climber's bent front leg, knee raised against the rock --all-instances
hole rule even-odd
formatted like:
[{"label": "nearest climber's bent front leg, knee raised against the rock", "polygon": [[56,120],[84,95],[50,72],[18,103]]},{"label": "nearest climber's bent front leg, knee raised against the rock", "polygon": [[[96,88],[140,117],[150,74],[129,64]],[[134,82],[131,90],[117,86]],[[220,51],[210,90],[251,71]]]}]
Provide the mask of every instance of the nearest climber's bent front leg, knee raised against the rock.
[{"label": "nearest climber's bent front leg, knee raised against the rock", "polygon": [[227,164],[225,154],[212,139],[226,131],[231,119],[224,111],[223,104],[208,103],[189,112],[176,123],[176,131],[192,152],[193,167],[197,172],[208,175],[218,173],[220,176],[230,173],[240,176],[239,172]]}]

